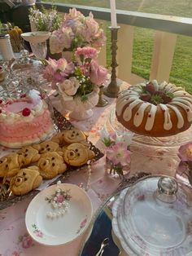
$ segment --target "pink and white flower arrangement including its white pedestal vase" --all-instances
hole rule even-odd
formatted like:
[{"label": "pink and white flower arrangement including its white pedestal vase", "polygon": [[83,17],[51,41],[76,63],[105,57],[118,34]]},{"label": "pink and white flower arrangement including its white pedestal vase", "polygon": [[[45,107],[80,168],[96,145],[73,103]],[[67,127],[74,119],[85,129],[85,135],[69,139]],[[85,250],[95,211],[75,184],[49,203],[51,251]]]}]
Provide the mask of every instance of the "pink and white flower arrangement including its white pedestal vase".
[{"label": "pink and white flower arrangement including its white pedestal vase", "polygon": [[84,120],[92,116],[90,110],[98,104],[99,86],[107,81],[107,69],[98,64],[97,56],[97,50],[87,46],[78,47],[71,62],[64,58],[47,61],[44,77],[59,90],[72,118]]}]

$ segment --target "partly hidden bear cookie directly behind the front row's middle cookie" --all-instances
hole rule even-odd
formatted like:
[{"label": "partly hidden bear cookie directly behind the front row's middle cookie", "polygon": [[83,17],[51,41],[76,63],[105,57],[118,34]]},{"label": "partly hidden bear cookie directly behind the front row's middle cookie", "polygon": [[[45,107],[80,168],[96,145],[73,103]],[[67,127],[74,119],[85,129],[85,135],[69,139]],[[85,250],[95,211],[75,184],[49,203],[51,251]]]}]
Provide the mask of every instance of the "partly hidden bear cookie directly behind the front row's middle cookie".
[{"label": "partly hidden bear cookie directly behind the front row's middle cookie", "polygon": [[59,144],[55,143],[54,141],[51,140],[46,140],[42,143],[39,144],[33,144],[32,146],[34,149],[37,149],[37,151],[40,154],[44,154],[46,152],[55,152],[59,151]]}]

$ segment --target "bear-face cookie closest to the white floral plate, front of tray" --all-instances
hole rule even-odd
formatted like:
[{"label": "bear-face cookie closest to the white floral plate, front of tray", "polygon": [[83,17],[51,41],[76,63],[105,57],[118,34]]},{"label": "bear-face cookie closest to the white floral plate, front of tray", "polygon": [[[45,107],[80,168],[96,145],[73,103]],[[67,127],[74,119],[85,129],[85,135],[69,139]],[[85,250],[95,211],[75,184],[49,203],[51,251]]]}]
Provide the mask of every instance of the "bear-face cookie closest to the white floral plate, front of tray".
[{"label": "bear-face cookie closest to the white floral plate, front of tray", "polygon": [[42,177],[37,166],[23,168],[11,179],[11,191],[15,196],[22,196],[38,188],[41,182]]}]

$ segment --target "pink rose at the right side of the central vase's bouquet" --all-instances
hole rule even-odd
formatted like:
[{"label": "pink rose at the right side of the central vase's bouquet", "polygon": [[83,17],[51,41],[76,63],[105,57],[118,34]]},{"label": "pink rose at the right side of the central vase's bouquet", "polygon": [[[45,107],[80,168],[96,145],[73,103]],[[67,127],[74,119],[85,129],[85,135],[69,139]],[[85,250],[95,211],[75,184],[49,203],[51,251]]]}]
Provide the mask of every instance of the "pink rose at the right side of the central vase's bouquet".
[{"label": "pink rose at the right side of the central vase's bouquet", "polygon": [[90,81],[95,85],[102,85],[107,80],[107,69],[99,66],[98,62],[92,60],[90,63]]}]

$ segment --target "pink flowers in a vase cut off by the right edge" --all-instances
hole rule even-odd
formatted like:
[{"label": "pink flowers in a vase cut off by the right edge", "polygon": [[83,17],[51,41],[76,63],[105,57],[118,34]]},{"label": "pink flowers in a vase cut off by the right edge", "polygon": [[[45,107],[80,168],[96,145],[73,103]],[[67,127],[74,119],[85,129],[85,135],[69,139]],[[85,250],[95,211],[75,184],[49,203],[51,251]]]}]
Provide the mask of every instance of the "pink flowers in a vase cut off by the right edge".
[{"label": "pink flowers in a vase cut off by the right edge", "polygon": [[180,158],[176,178],[192,186],[192,142],[181,145],[178,152]]}]

